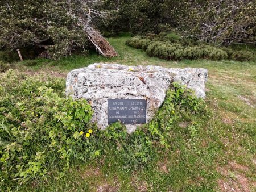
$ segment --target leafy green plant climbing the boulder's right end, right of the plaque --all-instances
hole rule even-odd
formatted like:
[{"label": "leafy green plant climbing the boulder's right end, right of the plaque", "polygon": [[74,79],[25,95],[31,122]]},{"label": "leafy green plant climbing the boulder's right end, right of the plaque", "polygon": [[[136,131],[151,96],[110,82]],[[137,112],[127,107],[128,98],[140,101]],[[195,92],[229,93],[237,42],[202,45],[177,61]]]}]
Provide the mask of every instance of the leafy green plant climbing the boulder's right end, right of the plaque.
[{"label": "leafy green plant climbing the boulder's right end, right of the plaque", "polygon": [[192,90],[185,89],[185,86],[174,82],[172,89],[167,91],[166,99],[156,112],[154,119],[145,127],[149,132],[150,140],[168,149],[171,145],[170,130],[174,128],[175,122],[184,112],[200,114],[203,117],[203,114],[206,114],[204,101],[196,98]]}]

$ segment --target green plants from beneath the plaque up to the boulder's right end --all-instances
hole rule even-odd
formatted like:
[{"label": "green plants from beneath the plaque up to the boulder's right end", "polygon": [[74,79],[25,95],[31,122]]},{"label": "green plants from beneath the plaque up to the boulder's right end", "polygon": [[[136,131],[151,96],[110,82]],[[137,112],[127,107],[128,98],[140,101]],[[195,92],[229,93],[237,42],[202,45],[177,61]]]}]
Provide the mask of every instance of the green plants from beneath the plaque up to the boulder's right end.
[{"label": "green plants from beneath the plaque up to the boulder's right end", "polygon": [[193,91],[174,82],[150,123],[138,127],[131,135],[121,123],[114,123],[104,131],[104,141],[114,144],[112,147],[124,168],[147,166],[149,161],[154,161],[156,153],[170,148],[170,130],[185,112],[202,117],[205,114],[204,102],[196,98]]}]

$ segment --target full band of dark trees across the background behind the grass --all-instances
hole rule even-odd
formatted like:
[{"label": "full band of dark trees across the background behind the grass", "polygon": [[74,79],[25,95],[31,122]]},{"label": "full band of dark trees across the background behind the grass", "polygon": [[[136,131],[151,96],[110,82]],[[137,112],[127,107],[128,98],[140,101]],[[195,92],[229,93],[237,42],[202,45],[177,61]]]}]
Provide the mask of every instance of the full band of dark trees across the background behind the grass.
[{"label": "full band of dark trees across the background behind the grass", "polygon": [[174,31],[226,46],[255,43],[256,2],[0,0],[0,46],[4,49],[43,47],[49,57],[58,58],[88,48],[88,39],[93,39],[88,34],[94,28],[108,34]]}]

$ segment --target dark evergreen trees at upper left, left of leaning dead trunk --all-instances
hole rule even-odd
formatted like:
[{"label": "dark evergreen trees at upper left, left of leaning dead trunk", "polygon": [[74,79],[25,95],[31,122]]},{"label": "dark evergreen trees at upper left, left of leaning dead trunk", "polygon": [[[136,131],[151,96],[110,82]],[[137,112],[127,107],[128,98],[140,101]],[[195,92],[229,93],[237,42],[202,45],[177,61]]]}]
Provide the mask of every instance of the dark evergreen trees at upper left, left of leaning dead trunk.
[{"label": "dark evergreen trees at upper left, left of leaning dead trunk", "polygon": [[52,58],[86,48],[86,27],[101,1],[0,1],[0,46],[44,48]]}]

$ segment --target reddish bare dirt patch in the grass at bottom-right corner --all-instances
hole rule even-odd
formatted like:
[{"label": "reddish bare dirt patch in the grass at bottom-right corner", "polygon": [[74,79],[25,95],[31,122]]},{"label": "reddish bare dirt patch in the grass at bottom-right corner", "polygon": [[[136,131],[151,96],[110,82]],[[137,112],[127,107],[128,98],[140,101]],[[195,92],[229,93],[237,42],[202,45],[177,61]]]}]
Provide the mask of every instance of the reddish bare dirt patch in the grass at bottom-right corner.
[{"label": "reddish bare dirt patch in the grass at bottom-right corner", "polygon": [[247,166],[236,162],[229,162],[224,168],[217,168],[217,171],[226,177],[218,180],[221,191],[250,192],[250,187],[255,187],[255,182],[245,176],[247,170],[249,170]]}]

